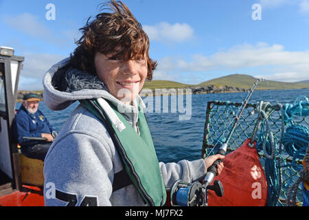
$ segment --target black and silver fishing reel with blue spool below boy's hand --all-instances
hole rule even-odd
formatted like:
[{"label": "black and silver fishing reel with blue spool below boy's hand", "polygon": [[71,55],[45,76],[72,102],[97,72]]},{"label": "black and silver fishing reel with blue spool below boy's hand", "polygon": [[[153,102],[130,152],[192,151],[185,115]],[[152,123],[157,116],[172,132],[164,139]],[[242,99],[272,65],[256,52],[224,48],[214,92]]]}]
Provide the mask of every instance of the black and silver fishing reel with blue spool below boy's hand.
[{"label": "black and silver fishing reel with blue spool below boy's hand", "polygon": [[202,185],[199,181],[186,183],[177,180],[170,191],[170,203],[172,206],[207,206],[208,190],[214,190],[218,197],[223,195],[223,186],[218,180],[211,186]]}]

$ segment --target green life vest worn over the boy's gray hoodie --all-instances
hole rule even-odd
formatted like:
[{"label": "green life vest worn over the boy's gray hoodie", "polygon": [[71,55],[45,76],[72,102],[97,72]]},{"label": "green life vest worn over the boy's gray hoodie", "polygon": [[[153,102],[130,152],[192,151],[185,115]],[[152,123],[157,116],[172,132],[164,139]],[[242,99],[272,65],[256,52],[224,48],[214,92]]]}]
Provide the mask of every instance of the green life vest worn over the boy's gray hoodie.
[{"label": "green life vest worn over the boy's gray hoodie", "polygon": [[[106,104],[108,103],[106,100],[103,101]],[[117,118],[124,125],[122,129],[119,129],[118,125],[112,122],[112,118],[108,117],[107,111],[104,111],[98,100],[80,100],[80,103],[103,122],[122,159],[124,170],[137,188],[139,195],[150,206],[163,206],[167,197],[165,184],[143,109],[139,107],[140,135],[138,135],[113,104],[108,103],[108,106],[113,109]],[[111,109],[107,110],[111,111]]]}]

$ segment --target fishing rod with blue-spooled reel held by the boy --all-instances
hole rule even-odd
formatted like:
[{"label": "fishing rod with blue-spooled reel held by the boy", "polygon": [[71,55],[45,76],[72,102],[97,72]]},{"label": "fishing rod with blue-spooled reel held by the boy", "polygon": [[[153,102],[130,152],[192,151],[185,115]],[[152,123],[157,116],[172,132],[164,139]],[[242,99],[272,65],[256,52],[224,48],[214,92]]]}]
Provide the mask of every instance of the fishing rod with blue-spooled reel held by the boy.
[{"label": "fishing rod with blue-spooled reel held by the boy", "polygon": [[[219,148],[218,154],[225,155],[227,153],[227,146],[229,144],[229,140],[233,135],[233,132],[236,129],[236,126],[244,112],[244,109],[247,107],[247,104],[253,94],[253,91],[258,86],[261,81],[265,81],[264,79],[258,79],[253,87],[249,90],[249,94],[242,102],[242,109],[240,113],[235,117],[235,122],[227,135],[227,139],[224,144]],[[217,175],[216,166],[222,162],[222,159],[217,159],[214,164],[212,164],[209,168],[207,168],[207,173],[205,175],[203,185],[199,181],[195,181],[193,183],[186,183],[182,180],[177,180],[172,185],[172,190],[170,191],[170,203],[172,206],[208,206],[207,203],[207,192],[208,190],[214,190],[218,197],[223,196],[223,186],[220,181],[214,181],[214,185],[210,185],[214,180],[214,177]]]}]

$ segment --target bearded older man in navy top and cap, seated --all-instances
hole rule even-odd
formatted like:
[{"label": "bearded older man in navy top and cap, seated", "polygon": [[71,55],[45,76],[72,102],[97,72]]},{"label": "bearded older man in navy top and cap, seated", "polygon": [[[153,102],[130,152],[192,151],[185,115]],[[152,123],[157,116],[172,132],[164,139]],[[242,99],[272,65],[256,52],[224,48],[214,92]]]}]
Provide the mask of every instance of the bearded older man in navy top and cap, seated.
[{"label": "bearded older man in navy top and cap, seated", "polygon": [[54,141],[55,131],[43,113],[38,110],[39,98],[36,94],[25,94],[23,102],[13,122],[13,136],[21,145],[26,157],[44,161],[49,146]]}]

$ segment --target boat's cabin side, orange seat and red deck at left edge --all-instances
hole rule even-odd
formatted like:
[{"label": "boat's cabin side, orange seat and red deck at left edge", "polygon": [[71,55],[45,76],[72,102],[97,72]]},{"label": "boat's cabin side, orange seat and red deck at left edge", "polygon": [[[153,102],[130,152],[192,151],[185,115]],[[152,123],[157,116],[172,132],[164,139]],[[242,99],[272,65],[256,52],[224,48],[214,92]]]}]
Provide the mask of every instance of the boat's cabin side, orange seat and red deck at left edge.
[{"label": "boat's cabin side, orange seat and red deck at left edge", "polygon": [[23,61],[0,48],[0,206],[44,206],[43,162],[22,155],[10,132]]}]

